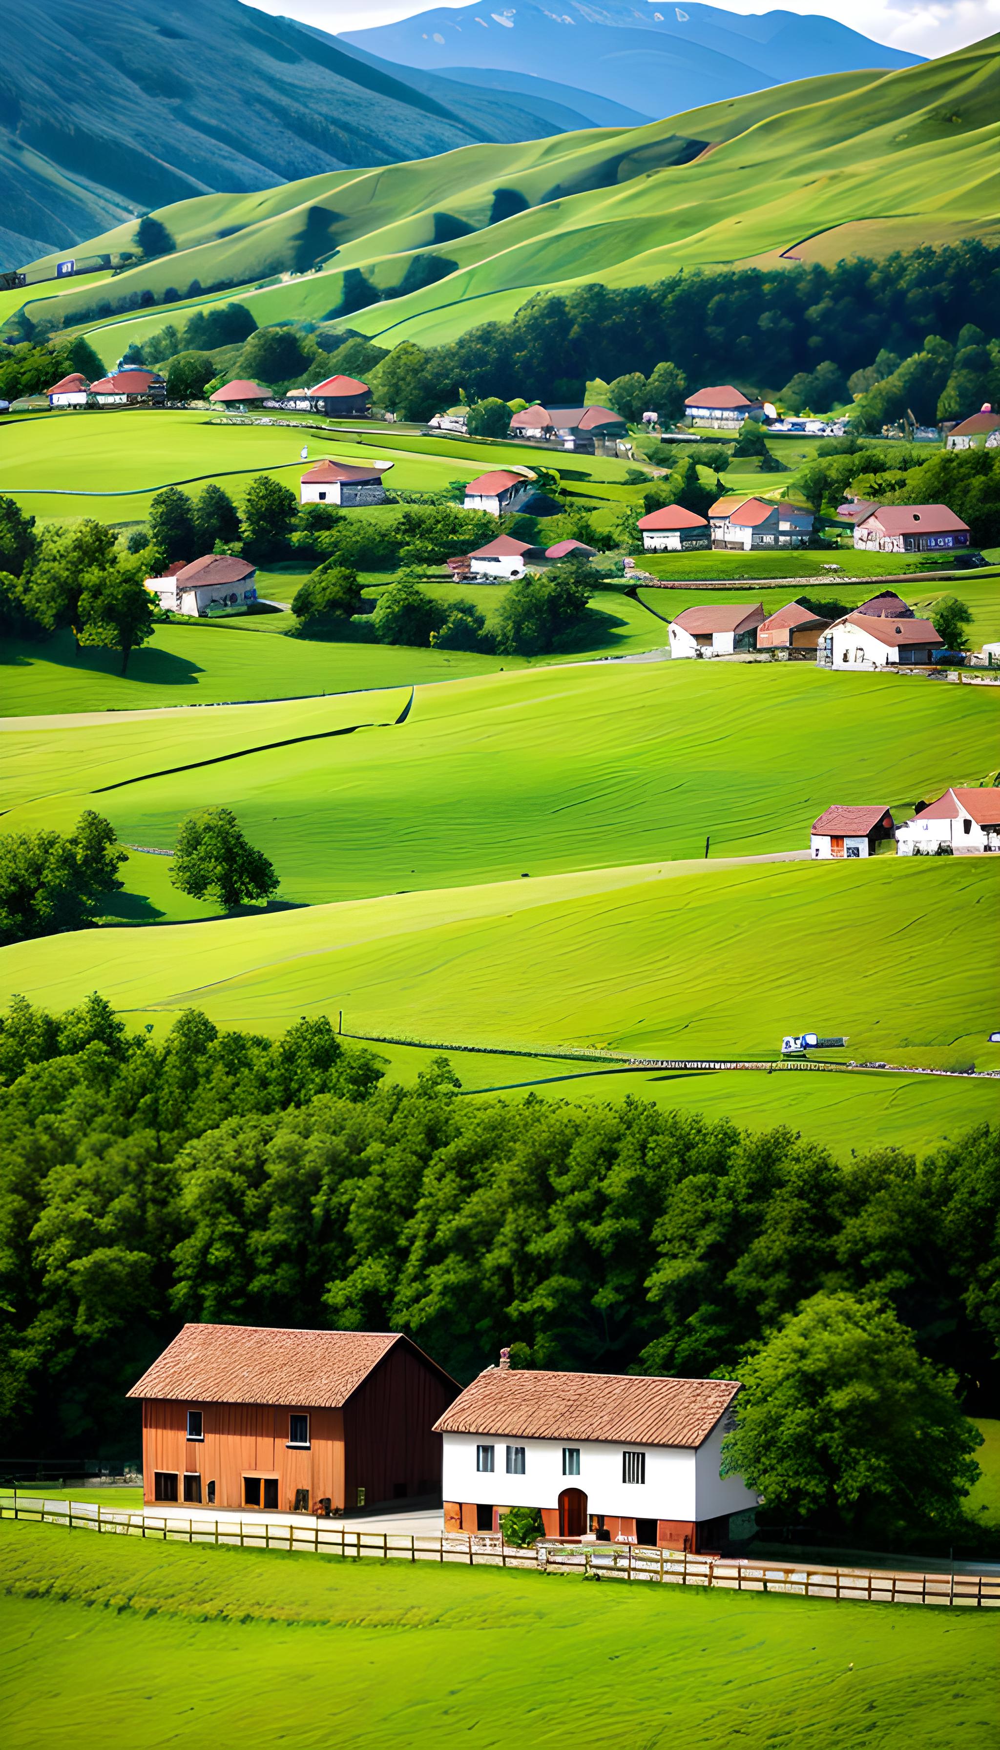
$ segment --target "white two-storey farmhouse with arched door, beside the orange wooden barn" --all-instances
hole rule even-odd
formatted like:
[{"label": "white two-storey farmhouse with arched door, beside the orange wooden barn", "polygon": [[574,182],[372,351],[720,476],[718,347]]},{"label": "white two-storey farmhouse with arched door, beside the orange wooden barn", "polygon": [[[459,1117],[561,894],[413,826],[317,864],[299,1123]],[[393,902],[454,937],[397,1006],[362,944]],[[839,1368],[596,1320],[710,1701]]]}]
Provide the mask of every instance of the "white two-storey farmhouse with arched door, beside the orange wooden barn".
[{"label": "white two-storey farmhouse with arched door, beside the orange wooden barn", "polygon": [[[438,1419],[447,1531],[538,1507],[548,1536],[718,1549],[757,1494],[720,1477],[732,1379],[511,1368],[506,1351]],[[750,1526],[746,1526],[750,1530]]]}]

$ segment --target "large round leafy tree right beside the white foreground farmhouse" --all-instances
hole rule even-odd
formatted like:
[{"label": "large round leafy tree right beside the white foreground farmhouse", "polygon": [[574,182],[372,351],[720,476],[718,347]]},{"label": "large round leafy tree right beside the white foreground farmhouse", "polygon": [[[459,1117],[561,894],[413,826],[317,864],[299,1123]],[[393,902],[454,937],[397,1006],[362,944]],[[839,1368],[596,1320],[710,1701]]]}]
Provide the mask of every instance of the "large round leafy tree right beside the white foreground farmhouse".
[{"label": "large round leafy tree right beside the white foreground farmhouse", "polygon": [[739,1367],[723,1475],[767,1507],[867,1535],[947,1526],[982,1437],[891,1307],[816,1293]]}]

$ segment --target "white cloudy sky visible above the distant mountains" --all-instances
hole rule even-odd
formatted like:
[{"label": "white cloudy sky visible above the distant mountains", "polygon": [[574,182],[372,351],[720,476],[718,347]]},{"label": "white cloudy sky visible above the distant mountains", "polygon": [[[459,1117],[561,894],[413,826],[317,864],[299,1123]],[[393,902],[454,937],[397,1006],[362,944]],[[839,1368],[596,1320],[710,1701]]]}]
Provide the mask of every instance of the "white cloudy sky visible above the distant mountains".
[{"label": "white cloudy sky visible above the distant mountains", "polygon": [[[250,0],[264,12],[298,18],[333,33],[364,30],[370,24],[391,24],[415,12],[429,12],[448,0]],[[466,5],[468,0],[459,0]],[[716,0],[720,4],[720,0]],[[730,12],[825,12],[841,24],[862,32],[874,42],[909,49],[912,54],[947,54],[967,42],[977,42],[1000,32],[1000,0],[837,0],[837,5],[820,5],[814,0],[723,0]]]}]

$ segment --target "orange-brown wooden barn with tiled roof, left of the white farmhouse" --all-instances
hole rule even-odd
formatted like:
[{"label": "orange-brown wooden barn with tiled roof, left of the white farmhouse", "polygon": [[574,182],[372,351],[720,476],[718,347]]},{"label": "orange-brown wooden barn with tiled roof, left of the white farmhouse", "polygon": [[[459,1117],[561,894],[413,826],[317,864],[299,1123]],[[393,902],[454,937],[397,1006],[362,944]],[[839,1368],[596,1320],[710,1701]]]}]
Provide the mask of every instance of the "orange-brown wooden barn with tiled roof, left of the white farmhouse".
[{"label": "orange-brown wooden barn with tiled roof, left of the white farmhouse", "polygon": [[186,1325],[131,1388],[145,1502],[308,1512],[441,1488],[457,1384],[394,1332]]}]

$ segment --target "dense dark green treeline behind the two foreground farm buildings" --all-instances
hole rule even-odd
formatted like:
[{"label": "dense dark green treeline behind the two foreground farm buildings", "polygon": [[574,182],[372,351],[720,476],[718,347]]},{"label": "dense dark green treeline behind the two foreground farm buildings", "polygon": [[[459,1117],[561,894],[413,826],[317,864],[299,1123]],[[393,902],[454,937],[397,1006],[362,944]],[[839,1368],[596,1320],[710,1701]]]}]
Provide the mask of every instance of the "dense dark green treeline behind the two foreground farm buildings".
[{"label": "dense dark green treeline behind the two foreground farm buildings", "polygon": [[730,1374],[818,1293],[879,1298],[968,1405],[996,1391],[1000,1152],[846,1166],[790,1130],[380,1080],[324,1018],[277,1041],[91,998],[0,1029],[0,1438],[135,1451],[123,1393],[182,1320],[408,1330],[459,1379]]}]

